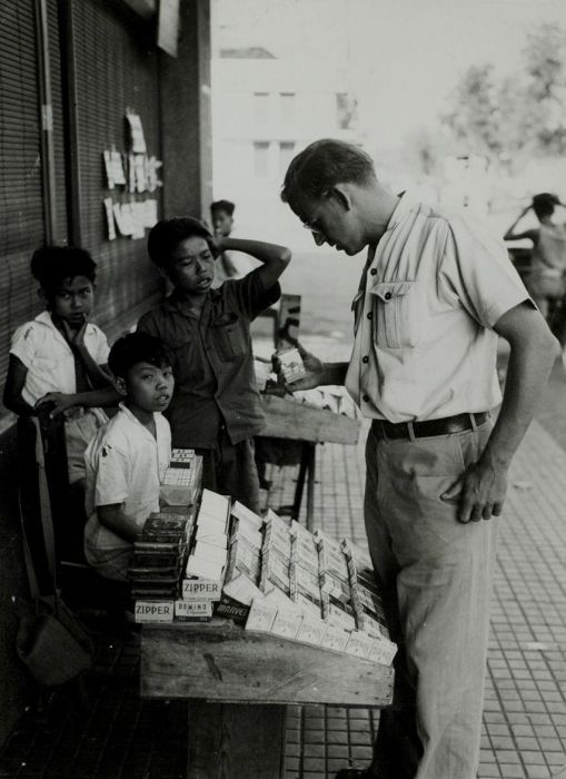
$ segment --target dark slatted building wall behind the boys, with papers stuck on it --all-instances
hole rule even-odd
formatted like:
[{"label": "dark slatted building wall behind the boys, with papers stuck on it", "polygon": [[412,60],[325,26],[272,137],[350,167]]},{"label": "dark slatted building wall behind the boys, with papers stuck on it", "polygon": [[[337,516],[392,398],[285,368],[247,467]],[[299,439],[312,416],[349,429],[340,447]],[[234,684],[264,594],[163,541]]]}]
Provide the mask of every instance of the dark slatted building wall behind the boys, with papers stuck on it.
[{"label": "dark slatted building wall behind the boys, with papers stuck on it", "polygon": [[[81,243],[99,265],[97,321],[112,341],[161,294],[146,240],[109,240],[102,152],[127,148],[126,109],[142,120],[148,152],[163,160],[158,215],[201,214],[211,180],[209,3],[182,0],[179,57],[156,48],[157,3],[122,0],[47,0],[46,55],[50,116],[41,134],[41,62],[36,49],[36,0],[0,4],[0,383],[10,335],[38,310],[29,274],[31,253],[51,236]],[[10,67],[3,65],[9,61]],[[38,69],[39,68],[39,69]],[[44,114],[44,111],[43,111]],[[47,135],[46,135],[47,132]],[[47,142],[51,144],[49,152]],[[9,174],[9,175],[8,175]],[[49,180],[51,176],[51,180]],[[147,237],[147,230],[145,234]],[[13,415],[0,407],[0,743],[32,686],[14,653],[12,598],[24,596],[17,511]]]}]

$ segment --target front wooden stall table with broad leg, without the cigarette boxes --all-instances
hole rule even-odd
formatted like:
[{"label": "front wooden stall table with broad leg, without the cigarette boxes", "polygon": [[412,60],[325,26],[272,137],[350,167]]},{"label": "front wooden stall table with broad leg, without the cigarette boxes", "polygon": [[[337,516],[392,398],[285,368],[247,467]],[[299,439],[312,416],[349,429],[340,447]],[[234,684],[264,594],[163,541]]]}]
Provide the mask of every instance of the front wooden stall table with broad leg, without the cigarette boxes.
[{"label": "front wooden stall table with broad leg, without the cigarette boxes", "polygon": [[141,697],[189,700],[188,779],[277,779],[289,704],[384,707],[393,668],[230,620],[145,624]]}]

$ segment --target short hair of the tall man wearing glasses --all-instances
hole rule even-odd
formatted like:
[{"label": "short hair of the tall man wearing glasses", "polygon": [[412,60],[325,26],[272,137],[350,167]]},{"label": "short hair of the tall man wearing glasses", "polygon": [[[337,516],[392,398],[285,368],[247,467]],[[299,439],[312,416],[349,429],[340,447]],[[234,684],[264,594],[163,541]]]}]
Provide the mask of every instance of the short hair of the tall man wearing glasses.
[{"label": "short hair of the tall man wearing glasses", "polygon": [[290,161],[281,200],[292,208],[300,197],[319,198],[337,184],[367,184],[376,177],[371,157],[358,146],[324,138],[307,146]]}]

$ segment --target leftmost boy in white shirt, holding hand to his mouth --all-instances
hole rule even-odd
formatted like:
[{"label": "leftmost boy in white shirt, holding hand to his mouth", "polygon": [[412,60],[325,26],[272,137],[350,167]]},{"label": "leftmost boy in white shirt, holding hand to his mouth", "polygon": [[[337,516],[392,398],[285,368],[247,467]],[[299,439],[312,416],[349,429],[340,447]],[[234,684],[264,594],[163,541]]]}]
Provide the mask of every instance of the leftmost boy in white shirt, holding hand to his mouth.
[{"label": "leftmost boy in white shirt, holding hand to his mouth", "polygon": [[[18,327],[10,346],[3,403],[21,416],[50,404],[64,413],[69,483],[83,482],[85,448],[118,395],[106,375],[108,343],[89,323],[97,265],[81,248],[48,246],[31,258],[46,310]],[[44,406],[46,410],[49,408]]]}]

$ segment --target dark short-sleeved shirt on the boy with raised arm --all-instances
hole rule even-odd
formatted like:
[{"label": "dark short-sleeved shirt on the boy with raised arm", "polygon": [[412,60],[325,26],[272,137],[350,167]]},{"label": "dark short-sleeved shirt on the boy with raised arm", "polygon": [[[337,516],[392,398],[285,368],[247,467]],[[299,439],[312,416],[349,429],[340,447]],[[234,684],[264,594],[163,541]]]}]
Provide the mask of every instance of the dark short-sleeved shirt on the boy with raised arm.
[{"label": "dark short-sleeved shirt on the boy with raised arm", "polygon": [[161,338],[171,361],[173,446],[214,448],[221,424],[232,444],[261,431],[249,325],[279,296],[279,284],[265,289],[255,270],[211,289],[200,318],[186,312],[177,292],[141,317],[138,329]]}]

